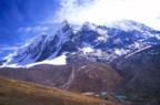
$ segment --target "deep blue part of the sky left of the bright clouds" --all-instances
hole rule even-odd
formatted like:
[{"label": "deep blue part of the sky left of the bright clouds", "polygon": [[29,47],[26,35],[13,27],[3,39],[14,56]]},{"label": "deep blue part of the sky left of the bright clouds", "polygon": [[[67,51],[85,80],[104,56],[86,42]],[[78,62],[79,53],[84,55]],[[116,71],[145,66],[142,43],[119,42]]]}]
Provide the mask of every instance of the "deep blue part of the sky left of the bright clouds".
[{"label": "deep blue part of the sky left of the bright clouds", "polygon": [[49,31],[42,23],[59,8],[58,0],[0,0],[0,59],[24,41]]}]

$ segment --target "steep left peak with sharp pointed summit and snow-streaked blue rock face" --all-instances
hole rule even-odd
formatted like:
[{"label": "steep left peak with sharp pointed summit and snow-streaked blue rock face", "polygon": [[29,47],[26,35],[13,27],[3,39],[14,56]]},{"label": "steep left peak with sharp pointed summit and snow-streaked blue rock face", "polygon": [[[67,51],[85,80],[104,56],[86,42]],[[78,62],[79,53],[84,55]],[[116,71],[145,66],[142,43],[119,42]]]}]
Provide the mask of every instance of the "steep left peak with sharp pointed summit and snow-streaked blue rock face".
[{"label": "steep left peak with sharp pointed summit and snow-streaked blue rock face", "polygon": [[64,52],[77,51],[74,33],[71,25],[63,21],[60,30],[53,35],[41,34],[31,42],[19,48],[8,56],[8,64],[24,65],[52,60]]}]

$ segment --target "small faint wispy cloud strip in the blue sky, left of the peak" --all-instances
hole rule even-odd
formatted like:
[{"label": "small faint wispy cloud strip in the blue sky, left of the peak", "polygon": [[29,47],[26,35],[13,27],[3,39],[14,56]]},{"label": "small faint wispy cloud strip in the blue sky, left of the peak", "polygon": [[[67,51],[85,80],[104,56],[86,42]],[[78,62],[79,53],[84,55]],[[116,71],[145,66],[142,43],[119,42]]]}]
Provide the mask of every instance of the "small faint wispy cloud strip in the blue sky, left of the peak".
[{"label": "small faint wispy cloud strip in the blue sky, left of the peak", "polygon": [[18,29],[18,33],[43,32],[47,30],[49,30],[48,27],[22,27]]}]

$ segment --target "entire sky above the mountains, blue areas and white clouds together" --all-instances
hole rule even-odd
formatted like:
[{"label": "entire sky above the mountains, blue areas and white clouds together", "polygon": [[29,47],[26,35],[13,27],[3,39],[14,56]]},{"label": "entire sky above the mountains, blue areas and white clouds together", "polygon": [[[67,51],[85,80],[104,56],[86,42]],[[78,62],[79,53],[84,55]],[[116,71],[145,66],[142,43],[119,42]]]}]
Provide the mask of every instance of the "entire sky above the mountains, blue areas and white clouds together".
[{"label": "entire sky above the mountains, blue areas and white clouds together", "polygon": [[129,19],[160,30],[159,0],[0,0],[0,60],[67,19],[104,24]]}]

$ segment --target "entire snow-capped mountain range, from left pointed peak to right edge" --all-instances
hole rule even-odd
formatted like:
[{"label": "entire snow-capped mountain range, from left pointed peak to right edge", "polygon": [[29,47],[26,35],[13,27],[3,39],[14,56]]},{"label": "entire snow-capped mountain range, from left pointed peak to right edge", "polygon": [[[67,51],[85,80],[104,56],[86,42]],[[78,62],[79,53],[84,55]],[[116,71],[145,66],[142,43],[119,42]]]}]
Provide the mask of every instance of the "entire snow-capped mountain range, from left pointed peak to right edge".
[{"label": "entire snow-capped mountain range, from left pointed peak to right edge", "polygon": [[8,64],[26,65],[66,55],[69,62],[80,57],[111,62],[160,44],[160,31],[130,20],[97,25],[86,22],[74,29],[63,21],[52,35],[41,34],[7,57]]}]

